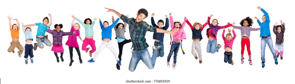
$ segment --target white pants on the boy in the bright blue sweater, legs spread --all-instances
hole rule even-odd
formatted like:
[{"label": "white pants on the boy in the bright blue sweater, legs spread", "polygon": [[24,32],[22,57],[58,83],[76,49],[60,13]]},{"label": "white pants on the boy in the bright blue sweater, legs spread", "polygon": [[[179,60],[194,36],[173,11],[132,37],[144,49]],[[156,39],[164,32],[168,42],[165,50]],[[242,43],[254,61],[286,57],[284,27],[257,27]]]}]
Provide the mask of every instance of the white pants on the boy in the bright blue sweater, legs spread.
[{"label": "white pants on the boy in the bright blue sweater, legs spread", "polygon": [[111,50],[111,52],[114,54],[115,58],[117,61],[119,61],[117,52],[114,49],[114,46],[112,44],[111,41],[105,42],[102,41],[102,44],[99,46],[98,50],[96,51],[94,57],[93,57],[93,61],[96,61],[97,56],[100,54],[100,52],[102,52],[103,49],[108,48],[109,50]]}]

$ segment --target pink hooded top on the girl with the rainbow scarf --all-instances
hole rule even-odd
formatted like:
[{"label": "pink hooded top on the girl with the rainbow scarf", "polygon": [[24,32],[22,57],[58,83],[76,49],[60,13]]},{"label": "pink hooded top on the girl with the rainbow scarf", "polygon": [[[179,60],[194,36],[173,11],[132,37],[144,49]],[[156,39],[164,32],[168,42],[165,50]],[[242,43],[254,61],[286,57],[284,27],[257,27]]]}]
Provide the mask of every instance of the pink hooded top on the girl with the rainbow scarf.
[{"label": "pink hooded top on the girl with the rainbow scarf", "polygon": [[[173,22],[173,17],[170,16],[170,27],[171,27],[171,30],[173,29],[176,29],[174,27],[174,22]],[[173,35],[173,41],[180,41],[180,40],[183,40],[183,39],[186,39],[186,35],[185,35],[185,32],[184,32],[184,26],[185,26],[186,22],[184,20],[184,22],[182,23],[182,27],[179,29],[178,32],[175,32],[175,35]]]}]

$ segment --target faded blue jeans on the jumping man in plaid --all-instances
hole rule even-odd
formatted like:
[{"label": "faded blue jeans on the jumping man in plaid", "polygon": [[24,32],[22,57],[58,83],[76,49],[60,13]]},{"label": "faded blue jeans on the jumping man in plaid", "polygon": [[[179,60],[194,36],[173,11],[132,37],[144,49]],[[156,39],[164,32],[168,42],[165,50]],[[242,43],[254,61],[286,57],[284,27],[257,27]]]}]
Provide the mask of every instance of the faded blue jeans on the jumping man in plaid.
[{"label": "faded blue jeans on the jumping man in plaid", "polygon": [[152,58],[149,55],[149,51],[146,49],[139,51],[132,51],[132,57],[129,63],[129,71],[133,72],[136,69],[138,62],[141,60],[149,69],[153,69],[155,67],[156,59],[157,59],[158,51],[153,51]]}]

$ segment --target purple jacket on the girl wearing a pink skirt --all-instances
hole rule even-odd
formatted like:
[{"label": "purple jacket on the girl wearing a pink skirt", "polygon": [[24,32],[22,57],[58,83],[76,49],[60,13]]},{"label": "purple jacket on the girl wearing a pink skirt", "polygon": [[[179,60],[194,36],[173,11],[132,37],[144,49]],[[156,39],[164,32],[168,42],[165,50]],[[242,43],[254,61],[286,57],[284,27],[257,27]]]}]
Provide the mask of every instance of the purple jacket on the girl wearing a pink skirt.
[{"label": "purple jacket on the girl wearing a pink skirt", "polygon": [[63,45],[63,36],[73,34],[73,32],[63,32],[63,31],[56,32],[55,29],[53,29],[53,30],[47,29],[46,32],[52,34],[52,37],[53,37],[52,44],[53,45]]}]

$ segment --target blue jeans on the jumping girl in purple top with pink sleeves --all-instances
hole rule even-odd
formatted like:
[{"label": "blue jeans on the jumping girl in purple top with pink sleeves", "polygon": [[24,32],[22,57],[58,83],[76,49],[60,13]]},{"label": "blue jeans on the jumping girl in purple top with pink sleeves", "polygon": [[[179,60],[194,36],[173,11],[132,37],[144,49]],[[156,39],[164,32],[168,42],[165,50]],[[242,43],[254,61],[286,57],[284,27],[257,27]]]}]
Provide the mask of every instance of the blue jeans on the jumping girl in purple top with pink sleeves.
[{"label": "blue jeans on the jumping girl in purple top with pink sleeves", "polygon": [[208,44],[207,44],[207,52],[208,53],[215,53],[217,50],[219,49],[219,47],[217,47],[217,40],[208,40]]}]

